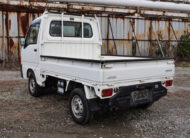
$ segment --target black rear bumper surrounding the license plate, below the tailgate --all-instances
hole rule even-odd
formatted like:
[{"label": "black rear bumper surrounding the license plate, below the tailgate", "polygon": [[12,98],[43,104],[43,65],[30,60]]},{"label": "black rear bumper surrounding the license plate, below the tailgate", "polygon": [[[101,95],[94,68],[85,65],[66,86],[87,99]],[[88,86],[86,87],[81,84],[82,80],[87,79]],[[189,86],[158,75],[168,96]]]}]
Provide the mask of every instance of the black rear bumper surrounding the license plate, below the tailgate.
[{"label": "black rear bumper surrounding the license plate, below the tailgate", "polygon": [[[155,88],[156,86],[156,88]],[[148,99],[134,102],[131,96],[133,91],[149,90]],[[149,83],[143,85],[134,85],[129,87],[121,87],[119,92],[109,100],[109,106],[133,107],[141,104],[152,103],[167,95],[167,89],[161,83]]]}]

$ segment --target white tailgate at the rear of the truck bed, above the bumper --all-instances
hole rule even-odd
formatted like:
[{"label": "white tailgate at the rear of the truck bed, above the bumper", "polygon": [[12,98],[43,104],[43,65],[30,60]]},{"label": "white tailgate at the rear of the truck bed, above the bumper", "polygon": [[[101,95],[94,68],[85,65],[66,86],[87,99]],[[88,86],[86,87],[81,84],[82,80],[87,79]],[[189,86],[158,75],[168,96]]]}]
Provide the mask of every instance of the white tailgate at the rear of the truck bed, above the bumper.
[{"label": "white tailgate at the rear of the truck bed, above the bumper", "polygon": [[174,60],[147,60],[104,63],[102,83],[155,82],[173,79]]}]

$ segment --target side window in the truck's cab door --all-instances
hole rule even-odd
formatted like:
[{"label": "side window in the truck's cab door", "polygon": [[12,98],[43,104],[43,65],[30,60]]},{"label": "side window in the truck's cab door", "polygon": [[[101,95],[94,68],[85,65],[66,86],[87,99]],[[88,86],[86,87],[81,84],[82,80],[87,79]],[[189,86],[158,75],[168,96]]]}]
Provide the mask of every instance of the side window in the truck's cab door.
[{"label": "side window in the truck's cab door", "polygon": [[35,23],[30,26],[26,37],[26,47],[31,44],[37,44],[39,28],[40,23]]}]

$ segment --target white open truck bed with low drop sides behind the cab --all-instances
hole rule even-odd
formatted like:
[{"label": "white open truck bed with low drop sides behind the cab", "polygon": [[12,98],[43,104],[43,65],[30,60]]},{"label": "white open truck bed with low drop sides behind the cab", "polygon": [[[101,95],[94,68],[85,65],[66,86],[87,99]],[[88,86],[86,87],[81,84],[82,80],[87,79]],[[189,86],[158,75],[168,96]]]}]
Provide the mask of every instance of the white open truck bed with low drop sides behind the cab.
[{"label": "white open truck bed with low drop sides behind the cab", "polygon": [[128,86],[173,79],[173,58],[101,56],[100,60],[41,56],[41,72],[91,86]]}]

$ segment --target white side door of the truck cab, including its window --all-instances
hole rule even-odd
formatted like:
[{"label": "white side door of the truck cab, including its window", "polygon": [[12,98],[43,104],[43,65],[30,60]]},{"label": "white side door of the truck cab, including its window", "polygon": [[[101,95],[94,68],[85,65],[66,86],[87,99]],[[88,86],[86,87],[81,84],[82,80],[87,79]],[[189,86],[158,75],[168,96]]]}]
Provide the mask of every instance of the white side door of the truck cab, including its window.
[{"label": "white side door of the truck cab, including its window", "polygon": [[38,33],[40,21],[33,23],[26,36],[25,46],[22,48],[22,65],[26,70],[35,70],[39,63]]}]

